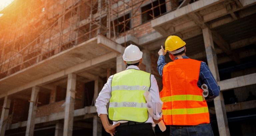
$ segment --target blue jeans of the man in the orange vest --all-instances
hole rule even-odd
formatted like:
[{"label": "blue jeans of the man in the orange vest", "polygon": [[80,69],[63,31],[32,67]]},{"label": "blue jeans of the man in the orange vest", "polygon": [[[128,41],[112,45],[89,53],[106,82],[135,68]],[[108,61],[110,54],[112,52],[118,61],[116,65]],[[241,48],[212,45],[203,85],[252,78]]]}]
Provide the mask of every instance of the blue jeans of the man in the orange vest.
[{"label": "blue jeans of the man in the orange vest", "polygon": [[213,136],[211,124],[195,126],[170,126],[170,136]]}]

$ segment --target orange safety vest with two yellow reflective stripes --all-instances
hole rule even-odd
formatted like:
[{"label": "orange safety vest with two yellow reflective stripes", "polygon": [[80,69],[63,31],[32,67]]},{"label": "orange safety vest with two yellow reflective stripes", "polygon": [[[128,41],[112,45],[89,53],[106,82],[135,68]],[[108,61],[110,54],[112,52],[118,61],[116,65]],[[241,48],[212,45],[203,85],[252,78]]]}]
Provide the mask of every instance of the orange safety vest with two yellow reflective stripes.
[{"label": "orange safety vest with two yellow reflective stripes", "polygon": [[201,61],[176,59],[164,66],[162,113],[165,125],[210,123],[203,90],[197,86]]}]

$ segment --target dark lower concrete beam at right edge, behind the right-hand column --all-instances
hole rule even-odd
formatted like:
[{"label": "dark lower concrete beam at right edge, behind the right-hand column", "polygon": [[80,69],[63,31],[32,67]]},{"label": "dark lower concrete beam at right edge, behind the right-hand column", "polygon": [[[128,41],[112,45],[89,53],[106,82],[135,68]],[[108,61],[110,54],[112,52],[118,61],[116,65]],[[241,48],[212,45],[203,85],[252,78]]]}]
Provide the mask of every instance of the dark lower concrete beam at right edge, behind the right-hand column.
[{"label": "dark lower concrete beam at right edge, behind the right-hand column", "polygon": [[[247,102],[238,102],[234,104],[227,104],[225,105],[225,108],[226,108],[226,112],[256,108],[256,100],[247,101]],[[211,114],[216,114],[214,107],[210,107],[209,111],[211,111],[210,112]]]}]

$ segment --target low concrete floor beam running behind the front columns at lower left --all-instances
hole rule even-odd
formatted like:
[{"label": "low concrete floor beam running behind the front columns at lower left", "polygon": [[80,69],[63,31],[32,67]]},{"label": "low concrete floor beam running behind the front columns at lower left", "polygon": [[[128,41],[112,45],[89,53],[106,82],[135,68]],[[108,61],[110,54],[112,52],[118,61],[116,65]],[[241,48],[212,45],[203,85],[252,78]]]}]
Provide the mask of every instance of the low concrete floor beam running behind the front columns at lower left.
[{"label": "low concrete floor beam running behind the front columns at lower left", "polygon": [[[81,119],[91,118],[94,116],[94,114],[92,113],[97,113],[96,107],[86,106],[84,108],[74,110],[74,117],[82,116]],[[35,119],[35,124],[61,120],[61,119],[64,119],[64,115],[65,115],[65,112],[62,111],[62,112],[53,113],[47,116],[38,117]],[[27,126],[27,121],[22,121],[22,122],[11,124],[10,127],[7,128],[6,130],[16,129],[16,128],[25,127],[25,126]]]}]

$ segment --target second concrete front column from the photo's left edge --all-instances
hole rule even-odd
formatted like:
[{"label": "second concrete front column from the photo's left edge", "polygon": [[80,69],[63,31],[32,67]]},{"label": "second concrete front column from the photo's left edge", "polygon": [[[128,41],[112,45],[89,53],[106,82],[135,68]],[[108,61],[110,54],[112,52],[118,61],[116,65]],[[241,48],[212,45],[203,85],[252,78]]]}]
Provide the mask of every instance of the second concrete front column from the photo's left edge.
[{"label": "second concrete front column from the photo's left edge", "polygon": [[38,86],[32,87],[31,98],[30,98],[30,103],[29,103],[29,110],[28,110],[26,136],[34,135],[36,109],[37,109],[37,102],[38,102],[38,92],[39,92]]}]

